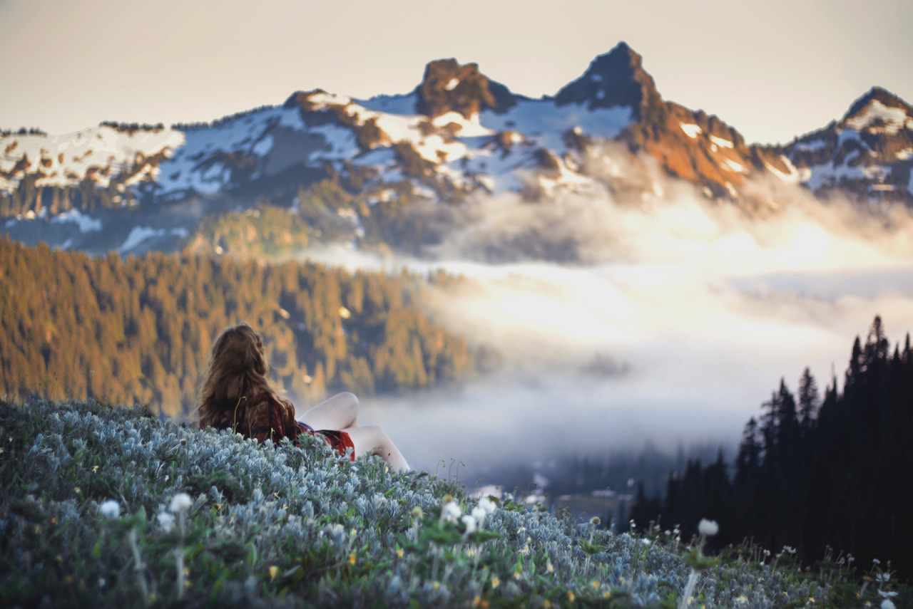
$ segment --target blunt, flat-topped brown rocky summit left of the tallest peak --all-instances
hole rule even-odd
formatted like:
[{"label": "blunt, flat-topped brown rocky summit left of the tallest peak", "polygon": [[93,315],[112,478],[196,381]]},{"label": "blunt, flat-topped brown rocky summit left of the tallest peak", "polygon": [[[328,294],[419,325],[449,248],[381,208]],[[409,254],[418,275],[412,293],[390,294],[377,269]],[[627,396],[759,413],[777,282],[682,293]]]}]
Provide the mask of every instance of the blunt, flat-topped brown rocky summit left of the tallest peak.
[{"label": "blunt, flat-topped brown rocky summit left of the tallest peak", "polygon": [[505,112],[517,103],[507,87],[479,72],[478,64],[460,66],[453,58],[425,66],[415,94],[415,111],[431,118],[457,112],[469,119],[483,109]]}]

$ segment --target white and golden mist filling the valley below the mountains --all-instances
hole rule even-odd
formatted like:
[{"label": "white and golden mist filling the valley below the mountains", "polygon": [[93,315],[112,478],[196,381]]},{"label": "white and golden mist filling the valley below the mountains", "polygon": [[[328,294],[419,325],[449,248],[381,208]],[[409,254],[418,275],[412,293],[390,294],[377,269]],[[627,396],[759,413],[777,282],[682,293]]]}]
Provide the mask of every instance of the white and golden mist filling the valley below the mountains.
[{"label": "white and golden mist filling the valley below the mountains", "polygon": [[[649,159],[609,147],[588,162],[604,189],[477,197],[422,258],[306,253],[463,278],[434,288],[428,312],[497,352],[491,371],[362,399],[362,422],[381,424],[413,466],[456,464],[475,485],[645,446],[706,456],[721,445],[731,459],[782,377],[794,391],[809,366],[824,390],[875,315],[892,345],[913,328],[908,211],[823,202],[779,180],[747,184],[750,206],[710,201]],[[556,252],[561,263],[543,261]]]}]

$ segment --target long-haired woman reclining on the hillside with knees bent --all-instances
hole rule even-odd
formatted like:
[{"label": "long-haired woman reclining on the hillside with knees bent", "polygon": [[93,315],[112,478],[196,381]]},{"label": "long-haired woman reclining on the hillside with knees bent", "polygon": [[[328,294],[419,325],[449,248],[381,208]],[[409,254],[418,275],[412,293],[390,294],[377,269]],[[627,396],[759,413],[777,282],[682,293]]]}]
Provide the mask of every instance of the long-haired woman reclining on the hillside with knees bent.
[{"label": "long-haired woman reclining on the hillside with knees bent", "polygon": [[[263,336],[241,322],[231,325],[213,343],[203,375],[197,410],[200,428],[234,429],[248,438],[275,444],[298,442],[300,434],[320,434],[341,454],[381,456],[394,470],[409,465],[394,443],[374,425],[358,425],[358,398],[341,393],[310,408],[298,420],[295,407],[269,387],[269,365]],[[315,431],[317,429],[317,431]]]}]

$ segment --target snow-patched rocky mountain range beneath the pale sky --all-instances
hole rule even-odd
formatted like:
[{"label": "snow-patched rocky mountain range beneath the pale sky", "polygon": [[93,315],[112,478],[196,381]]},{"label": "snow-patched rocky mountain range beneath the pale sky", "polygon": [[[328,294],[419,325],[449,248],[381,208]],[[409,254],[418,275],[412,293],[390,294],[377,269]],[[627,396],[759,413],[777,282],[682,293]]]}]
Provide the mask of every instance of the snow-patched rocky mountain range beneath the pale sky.
[{"label": "snow-patched rocky mountain range beneath the pale sky", "polygon": [[[749,144],[716,116],[664,100],[642,64],[620,43],[533,99],[442,59],[403,95],[318,89],[206,124],[5,131],[0,230],[91,253],[222,253],[214,219],[267,206],[303,219],[287,240],[420,253],[446,230],[429,228],[435,210],[479,194],[656,193],[649,171],[630,169],[644,166],[748,213],[776,212],[747,188],[765,179],[825,200],[913,206],[913,108],[887,90],[786,145]],[[409,213],[418,207],[420,226]]]}]

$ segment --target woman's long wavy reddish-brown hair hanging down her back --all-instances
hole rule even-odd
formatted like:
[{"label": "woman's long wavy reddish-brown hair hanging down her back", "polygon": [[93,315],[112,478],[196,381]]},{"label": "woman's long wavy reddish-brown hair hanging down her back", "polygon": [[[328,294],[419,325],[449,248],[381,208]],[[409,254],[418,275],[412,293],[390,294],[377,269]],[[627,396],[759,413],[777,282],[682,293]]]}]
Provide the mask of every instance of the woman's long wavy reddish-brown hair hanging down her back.
[{"label": "woman's long wavy reddish-brown hair hanging down her back", "polygon": [[269,387],[268,373],[263,335],[246,322],[226,327],[215,339],[201,376],[196,402],[200,428],[230,426],[243,401],[265,392],[276,397]]}]

